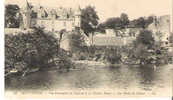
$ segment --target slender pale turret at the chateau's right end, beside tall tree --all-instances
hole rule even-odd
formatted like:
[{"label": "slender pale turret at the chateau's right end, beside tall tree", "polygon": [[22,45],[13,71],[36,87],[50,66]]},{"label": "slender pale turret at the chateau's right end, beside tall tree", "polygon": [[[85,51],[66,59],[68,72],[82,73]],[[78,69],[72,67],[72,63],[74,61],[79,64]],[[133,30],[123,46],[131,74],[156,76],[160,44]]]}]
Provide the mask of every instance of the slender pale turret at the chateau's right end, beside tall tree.
[{"label": "slender pale turret at the chateau's right end, beside tall tree", "polygon": [[81,27],[81,8],[78,6],[77,10],[75,11],[75,27]]}]

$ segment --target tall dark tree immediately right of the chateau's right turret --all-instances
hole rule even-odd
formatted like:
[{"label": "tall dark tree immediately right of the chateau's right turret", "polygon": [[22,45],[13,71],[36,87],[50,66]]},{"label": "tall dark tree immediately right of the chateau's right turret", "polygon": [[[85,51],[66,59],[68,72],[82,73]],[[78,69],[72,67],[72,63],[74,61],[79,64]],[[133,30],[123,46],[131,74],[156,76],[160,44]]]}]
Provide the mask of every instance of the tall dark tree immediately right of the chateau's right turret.
[{"label": "tall dark tree immediately right of the chateau's right turret", "polygon": [[81,17],[81,28],[84,33],[89,36],[89,33],[93,33],[95,31],[99,17],[94,7],[91,6],[87,6],[85,9],[82,9]]}]

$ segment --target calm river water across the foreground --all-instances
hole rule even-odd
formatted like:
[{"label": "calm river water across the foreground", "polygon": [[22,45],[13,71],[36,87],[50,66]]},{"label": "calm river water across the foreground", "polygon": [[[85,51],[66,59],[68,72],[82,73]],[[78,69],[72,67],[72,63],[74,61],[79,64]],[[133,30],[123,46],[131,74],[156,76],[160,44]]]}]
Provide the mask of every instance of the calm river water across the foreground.
[{"label": "calm river water across the foreground", "polygon": [[[83,66],[83,67],[82,67]],[[114,89],[157,91],[170,88],[172,65],[157,67],[121,66],[116,68],[81,65],[70,72],[44,71],[6,81],[6,90],[92,90]]]}]

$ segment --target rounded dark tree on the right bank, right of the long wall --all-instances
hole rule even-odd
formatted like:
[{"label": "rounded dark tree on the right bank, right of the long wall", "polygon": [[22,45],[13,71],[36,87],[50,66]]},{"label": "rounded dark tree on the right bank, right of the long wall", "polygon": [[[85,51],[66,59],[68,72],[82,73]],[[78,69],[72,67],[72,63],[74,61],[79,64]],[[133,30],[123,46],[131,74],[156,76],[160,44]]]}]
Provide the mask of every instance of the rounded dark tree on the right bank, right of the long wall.
[{"label": "rounded dark tree on the right bank, right of the long wall", "polygon": [[153,54],[149,52],[149,49],[153,50],[154,46],[155,41],[152,36],[152,32],[148,30],[141,30],[135,40],[135,58],[137,58],[141,64],[150,63],[152,61],[151,58],[153,57]]}]

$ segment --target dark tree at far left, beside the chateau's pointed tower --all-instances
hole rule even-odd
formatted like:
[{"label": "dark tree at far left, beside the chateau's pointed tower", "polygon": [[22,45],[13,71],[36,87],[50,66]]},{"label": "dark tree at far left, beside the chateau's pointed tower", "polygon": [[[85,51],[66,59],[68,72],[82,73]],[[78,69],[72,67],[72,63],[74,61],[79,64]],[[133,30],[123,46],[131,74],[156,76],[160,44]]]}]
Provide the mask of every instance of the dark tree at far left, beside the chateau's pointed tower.
[{"label": "dark tree at far left, beside the chateau's pointed tower", "polygon": [[5,6],[5,27],[19,27],[19,18],[17,17],[17,13],[19,13],[18,5],[6,5]]}]

